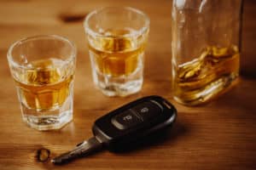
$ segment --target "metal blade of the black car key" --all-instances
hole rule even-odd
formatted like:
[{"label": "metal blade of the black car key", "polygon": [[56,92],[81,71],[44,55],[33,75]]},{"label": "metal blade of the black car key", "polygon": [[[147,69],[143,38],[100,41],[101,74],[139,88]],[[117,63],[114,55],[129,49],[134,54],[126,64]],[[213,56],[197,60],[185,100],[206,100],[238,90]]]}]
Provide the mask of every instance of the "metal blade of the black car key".
[{"label": "metal blade of the black car key", "polygon": [[93,153],[94,151],[100,149],[102,149],[102,143],[99,142],[95,137],[92,137],[78,144],[74,150],[68,151],[67,153],[62,154],[61,156],[57,156],[51,161],[56,165],[61,165],[77,157],[87,156]]}]

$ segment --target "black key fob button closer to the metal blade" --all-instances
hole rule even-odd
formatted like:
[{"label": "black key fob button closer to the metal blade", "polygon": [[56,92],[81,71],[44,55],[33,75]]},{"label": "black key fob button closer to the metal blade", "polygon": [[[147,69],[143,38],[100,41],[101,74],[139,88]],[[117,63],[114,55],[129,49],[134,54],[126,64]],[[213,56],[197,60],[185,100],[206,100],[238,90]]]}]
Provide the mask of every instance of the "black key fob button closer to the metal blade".
[{"label": "black key fob button closer to the metal blade", "polygon": [[113,125],[119,129],[127,129],[136,126],[141,120],[130,110],[124,111],[111,120]]}]

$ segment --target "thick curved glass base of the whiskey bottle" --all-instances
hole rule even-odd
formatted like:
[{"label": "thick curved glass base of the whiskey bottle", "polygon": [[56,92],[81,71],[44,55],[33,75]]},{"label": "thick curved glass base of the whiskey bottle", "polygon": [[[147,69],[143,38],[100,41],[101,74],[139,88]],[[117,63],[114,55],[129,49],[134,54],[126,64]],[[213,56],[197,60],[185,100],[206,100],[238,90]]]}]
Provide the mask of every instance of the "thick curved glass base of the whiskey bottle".
[{"label": "thick curved glass base of the whiskey bottle", "polygon": [[174,99],[183,105],[201,105],[229,91],[238,81],[238,73],[223,76],[203,88],[179,92]]}]

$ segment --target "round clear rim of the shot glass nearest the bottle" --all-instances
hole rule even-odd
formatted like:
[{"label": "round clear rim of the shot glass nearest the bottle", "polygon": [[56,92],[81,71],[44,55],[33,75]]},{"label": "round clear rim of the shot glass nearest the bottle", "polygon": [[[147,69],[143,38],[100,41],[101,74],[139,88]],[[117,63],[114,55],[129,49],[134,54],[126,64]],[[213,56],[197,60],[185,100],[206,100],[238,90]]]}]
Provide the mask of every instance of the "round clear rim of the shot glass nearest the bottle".
[{"label": "round clear rim of the shot glass nearest the bottle", "polygon": [[109,7],[102,7],[102,8],[98,8],[95,9],[93,11],[91,11],[84,19],[84,31],[85,33],[88,33],[89,35],[92,35],[94,37],[113,37],[113,36],[108,36],[108,35],[102,35],[101,33],[98,33],[96,31],[93,31],[90,29],[90,26],[88,24],[90,18],[94,15],[94,14],[98,14],[100,12],[102,12],[104,9],[107,8],[122,8],[123,10],[130,10],[132,12],[135,12],[137,14],[141,14],[143,15],[144,19],[145,19],[145,25],[139,29],[139,31],[136,31],[136,33],[129,33],[129,34],[125,34],[122,36],[116,36],[116,37],[138,37],[140,35],[143,35],[144,32],[149,30],[149,24],[150,24],[150,19],[148,17],[148,14],[145,14],[142,10],[139,10],[137,8],[132,8],[132,7],[118,7],[118,6],[109,6]]}]

